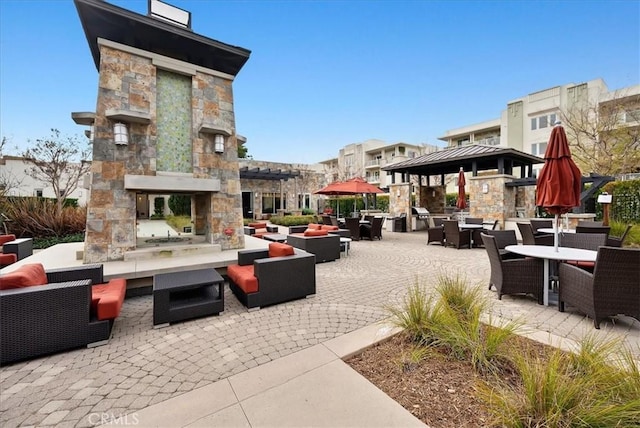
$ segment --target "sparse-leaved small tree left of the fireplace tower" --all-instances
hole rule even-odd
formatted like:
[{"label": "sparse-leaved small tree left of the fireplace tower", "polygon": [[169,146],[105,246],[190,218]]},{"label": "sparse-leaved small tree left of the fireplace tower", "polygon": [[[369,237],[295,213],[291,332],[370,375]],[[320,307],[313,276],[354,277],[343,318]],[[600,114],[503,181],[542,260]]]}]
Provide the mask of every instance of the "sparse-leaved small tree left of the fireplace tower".
[{"label": "sparse-leaved small tree left of the fireplace tower", "polygon": [[82,148],[78,137],[61,137],[60,131],[51,129],[51,136],[38,139],[24,153],[31,168],[25,172],[35,180],[46,183],[57,195],[56,209],[62,212],[64,199],[78,188],[80,180],[89,172],[91,164],[88,145]]}]

